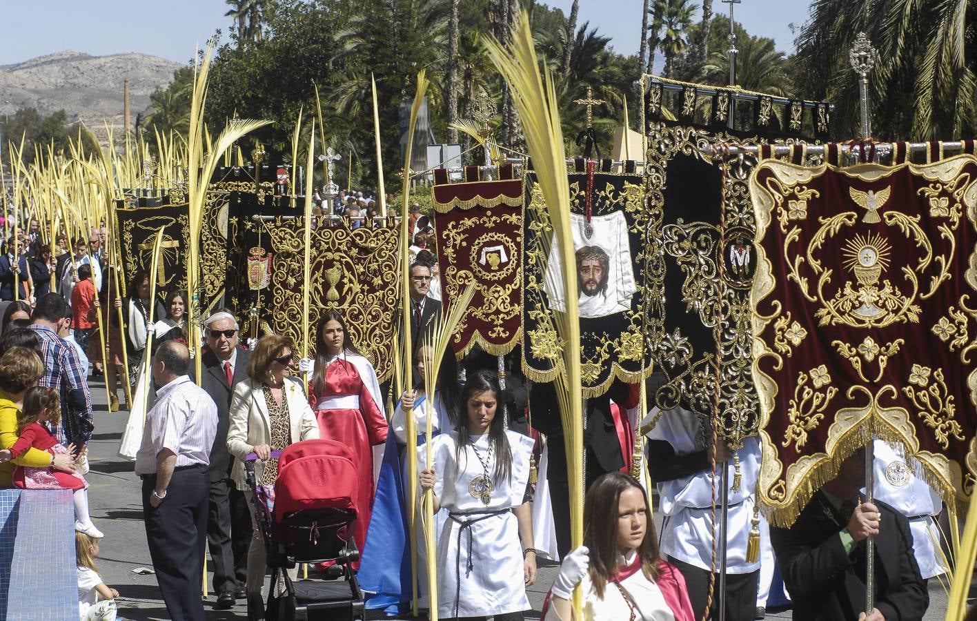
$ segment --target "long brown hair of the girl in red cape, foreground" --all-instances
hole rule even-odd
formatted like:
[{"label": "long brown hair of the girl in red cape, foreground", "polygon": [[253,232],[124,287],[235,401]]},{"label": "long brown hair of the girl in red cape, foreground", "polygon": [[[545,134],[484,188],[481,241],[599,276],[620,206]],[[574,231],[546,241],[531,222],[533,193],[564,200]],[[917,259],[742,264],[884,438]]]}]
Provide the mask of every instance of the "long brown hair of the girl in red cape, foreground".
[{"label": "long brown hair of the girl in red cape, foreground", "polygon": [[617,566],[617,520],[611,517],[617,517],[621,493],[631,487],[640,489],[645,499],[647,526],[645,539],[638,548],[641,570],[649,580],[658,579],[658,535],[655,534],[648,494],[634,476],[608,473],[587,487],[583,506],[583,545],[590,549],[590,583],[598,598],[604,597],[608,581],[621,569]]}]

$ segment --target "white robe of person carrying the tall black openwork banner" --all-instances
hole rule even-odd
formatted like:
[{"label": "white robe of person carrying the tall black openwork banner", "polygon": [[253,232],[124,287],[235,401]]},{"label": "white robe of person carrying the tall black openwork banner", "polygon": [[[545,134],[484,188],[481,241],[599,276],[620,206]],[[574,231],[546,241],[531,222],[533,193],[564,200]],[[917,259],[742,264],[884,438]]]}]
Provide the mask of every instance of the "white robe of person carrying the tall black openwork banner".
[{"label": "white robe of person carrying the tall black openwork banner", "polygon": [[[653,408],[652,413],[657,414],[658,409]],[[686,455],[701,450],[697,441],[700,430],[699,418],[695,414],[676,408],[665,412],[648,437],[666,440],[675,449],[676,455]],[[739,455],[739,491],[732,489],[735,473],[732,458],[727,467],[727,480],[731,489],[726,530],[726,570],[735,574],[752,573],[760,568],[759,560],[746,562],[746,543],[750,519],[753,517],[754,487],[760,471],[759,438],[744,439]],[[717,519],[721,493],[722,490],[717,488]],[[658,483],[658,495],[661,499],[661,513],[665,516],[661,528],[662,556],[667,555],[708,570],[712,566],[712,472],[705,471]],[[716,559],[717,569],[718,566],[719,559]]]}]

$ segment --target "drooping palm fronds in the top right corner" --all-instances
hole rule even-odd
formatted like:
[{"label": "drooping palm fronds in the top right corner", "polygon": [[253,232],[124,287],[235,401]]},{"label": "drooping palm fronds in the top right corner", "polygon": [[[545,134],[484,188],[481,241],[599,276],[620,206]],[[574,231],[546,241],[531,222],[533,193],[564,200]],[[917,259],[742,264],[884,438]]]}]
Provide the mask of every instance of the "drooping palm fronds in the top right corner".
[{"label": "drooping palm fronds in the top right corner", "polygon": [[877,48],[871,112],[878,138],[934,140],[977,126],[977,0],[815,0],[797,39],[807,97],[835,105],[835,129],[858,130],[858,79],[847,50],[864,31]]}]

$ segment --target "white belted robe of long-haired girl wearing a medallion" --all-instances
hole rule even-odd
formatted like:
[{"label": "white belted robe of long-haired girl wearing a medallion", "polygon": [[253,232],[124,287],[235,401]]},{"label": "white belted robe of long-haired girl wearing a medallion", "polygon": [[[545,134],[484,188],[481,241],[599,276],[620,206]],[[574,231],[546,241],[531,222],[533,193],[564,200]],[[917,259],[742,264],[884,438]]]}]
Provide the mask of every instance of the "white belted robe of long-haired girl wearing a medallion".
[{"label": "white belted robe of long-haired girl wearing a medallion", "polygon": [[[438,570],[441,572],[438,576],[438,614],[442,618],[492,616],[531,608],[523,582],[519,525],[516,515],[507,510],[523,504],[530,480],[533,442],[531,437],[516,432],[505,434],[512,449],[512,476],[493,481],[488,505],[469,493],[472,479],[484,473],[474,449],[464,447],[460,463],[456,463],[454,432],[439,435],[431,441],[434,468],[438,473],[434,491],[441,506],[451,514],[438,538]],[[472,436],[471,439],[482,459],[486,459],[489,455],[488,435]],[[421,447],[422,462],[425,448]],[[487,461],[490,476],[495,468],[493,453]],[[496,511],[505,513],[487,513]],[[483,519],[462,531],[463,521],[479,518]],[[471,571],[467,568],[469,537]]]}]

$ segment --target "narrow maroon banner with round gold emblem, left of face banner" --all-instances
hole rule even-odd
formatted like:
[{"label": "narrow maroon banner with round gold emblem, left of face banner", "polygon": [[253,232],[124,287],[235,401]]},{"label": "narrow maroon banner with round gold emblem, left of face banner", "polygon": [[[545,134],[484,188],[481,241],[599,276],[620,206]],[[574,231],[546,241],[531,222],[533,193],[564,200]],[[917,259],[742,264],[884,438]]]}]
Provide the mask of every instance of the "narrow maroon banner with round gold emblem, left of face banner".
[{"label": "narrow maroon banner with round gold emblem, left of face banner", "polygon": [[445,313],[469,282],[476,283],[450,341],[459,359],[476,345],[492,355],[511,352],[522,324],[523,182],[511,179],[511,165],[500,181],[478,181],[473,168],[466,172],[474,181],[457,184],[436,171],[434,186]]}]

